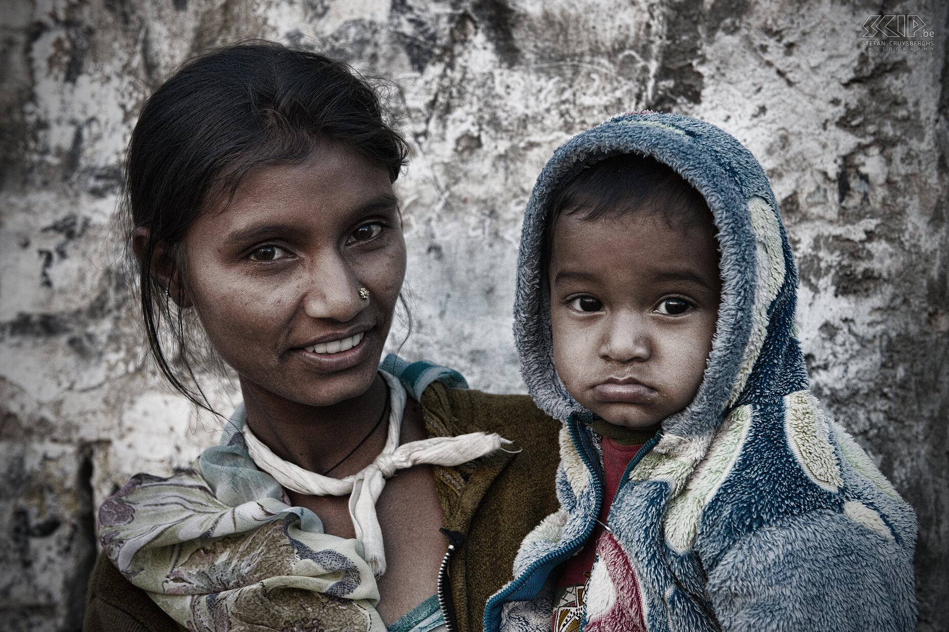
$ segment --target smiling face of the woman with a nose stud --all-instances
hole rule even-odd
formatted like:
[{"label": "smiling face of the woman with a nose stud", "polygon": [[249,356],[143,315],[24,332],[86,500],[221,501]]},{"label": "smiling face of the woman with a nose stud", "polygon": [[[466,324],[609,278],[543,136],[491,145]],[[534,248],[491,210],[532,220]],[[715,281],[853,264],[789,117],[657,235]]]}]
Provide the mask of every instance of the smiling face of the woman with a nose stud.
[{"label": "smiling face of the woman with a nose stud", "polygon": [[230,203],[210,206],[183,241],[183,299],[245,397],[326,406],[362,395],[405,275],[388,173],[324,145],[254,170]]}]

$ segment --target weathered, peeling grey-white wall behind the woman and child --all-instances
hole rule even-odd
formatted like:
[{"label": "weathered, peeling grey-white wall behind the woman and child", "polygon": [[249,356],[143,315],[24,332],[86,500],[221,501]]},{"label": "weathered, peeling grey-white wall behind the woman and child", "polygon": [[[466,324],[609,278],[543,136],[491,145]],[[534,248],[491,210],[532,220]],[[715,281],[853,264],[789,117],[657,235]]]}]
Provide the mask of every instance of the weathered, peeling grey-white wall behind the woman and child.
[{"label": "weathered, peeling grey-white wall behind the woman and child", "polygon": [[[923,46],[865,49],[872,14]],[[698,116],[772,178],[822,397],[913,504],[920,630],[949,622],[947,9],[796,0],[3,0],[0,620],[78,630],[94,508],[214,441],[146,362],[110,229],[142,101],[192,53],[265,37],[393,79],[415,332],[474,386],[523,391],[519,222],[571,135],[618,112]],[[919,35],[918,35],[919,37]],[[214,395],[222,410],[233,388]]]}]

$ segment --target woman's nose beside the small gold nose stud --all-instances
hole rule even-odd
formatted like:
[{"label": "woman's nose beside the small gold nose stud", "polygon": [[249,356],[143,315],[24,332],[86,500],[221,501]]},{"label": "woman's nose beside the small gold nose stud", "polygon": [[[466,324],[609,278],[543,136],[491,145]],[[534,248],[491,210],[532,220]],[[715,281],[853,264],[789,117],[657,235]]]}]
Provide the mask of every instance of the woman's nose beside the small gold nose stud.
[{"label": "woman's nose beside the small gold nose stud", "polygon": [[310,318],[332,319],[345,323],[369,305],[363,299],[356,275],[342,257],[324,257],[307,267],[304,279],[303,307]]}]

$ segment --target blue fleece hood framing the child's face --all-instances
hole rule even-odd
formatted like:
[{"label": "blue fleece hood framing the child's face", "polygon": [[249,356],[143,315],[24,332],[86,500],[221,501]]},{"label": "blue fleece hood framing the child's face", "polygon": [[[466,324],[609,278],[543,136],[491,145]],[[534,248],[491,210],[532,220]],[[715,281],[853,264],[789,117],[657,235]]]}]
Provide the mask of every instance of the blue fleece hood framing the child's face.
[{"label": "blue fleece hood framing the child's face", "polygon": [[[624,114],[570,139],[537,177],[524,215],[514,303],[514,338],[530,395],[561,420],[582,407],[557,377],[550,343],[542,249],[550,202],[593,162],[639,154],[672,167],[705,197],[721,251],[716,336],[695,400],[663,430],[707,433],[723,413],[807,388],[792,334],[797,270],[764,170],[741,143],[704,121],[676,114]],[[775,380],[775,378],[777,378]]]}]

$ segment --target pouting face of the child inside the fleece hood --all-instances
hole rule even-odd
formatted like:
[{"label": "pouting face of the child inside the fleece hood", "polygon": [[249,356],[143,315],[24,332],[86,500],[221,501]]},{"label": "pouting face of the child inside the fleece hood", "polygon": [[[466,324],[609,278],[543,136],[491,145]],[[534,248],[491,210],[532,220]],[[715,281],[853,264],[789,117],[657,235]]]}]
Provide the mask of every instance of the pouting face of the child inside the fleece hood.
[{"label": "pouting face of the child inside the fleece hood", "polygon": [[627,428],[693,400],[721,293],[711,228],[648,211],[562,215],[549,282],[554,362],[575,400]]}]

